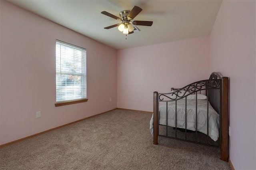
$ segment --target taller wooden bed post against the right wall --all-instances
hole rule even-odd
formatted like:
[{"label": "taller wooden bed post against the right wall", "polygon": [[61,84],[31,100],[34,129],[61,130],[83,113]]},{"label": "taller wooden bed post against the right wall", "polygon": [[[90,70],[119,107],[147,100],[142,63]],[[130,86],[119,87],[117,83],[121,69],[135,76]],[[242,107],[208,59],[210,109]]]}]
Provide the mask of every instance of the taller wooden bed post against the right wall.
[{"label": "taller wooden bed post against the right wall", "polygon": [[221,160],[228,162],[229,136],[228,136],[228,77],[222,77],[222,111],[221,111]]}]

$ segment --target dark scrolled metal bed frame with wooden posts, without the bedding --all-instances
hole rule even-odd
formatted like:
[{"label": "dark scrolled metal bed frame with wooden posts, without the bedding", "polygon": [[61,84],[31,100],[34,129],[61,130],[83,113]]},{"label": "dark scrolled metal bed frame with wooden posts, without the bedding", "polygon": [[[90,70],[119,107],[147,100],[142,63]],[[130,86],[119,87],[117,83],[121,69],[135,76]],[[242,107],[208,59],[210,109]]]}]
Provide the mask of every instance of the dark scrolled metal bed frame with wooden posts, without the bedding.
[{"label": "dark scrolled metal bed frame with wooden posts, without the bedding", "polygon": [[[229,93],[229,84],[228,84],[228,77],[220,77],[220,75],[216,72],[213,72],[210,75],[210,78],[207,80],[202,81],[196,81],[194,83],[191,83],[185,87],[182,87],[180,89],[174,89],[174,92],[172,93],[158,93],[154,92],[154,117],[153,117],[153,143],[158,144],[158,136],[167,137],[167,138],[174,138],[178,140],[185,140],[188,142],[194,142],[198,144],[204,144],[208,146],[213,146],[209,144],[209,137],[207,137],[207,143],[200,143],[198,142],[198,131],[197,131],[197,95],[196,95],[196,131],[195,136],[196,140],[191,141],[187,140],[187,133],[190,130],[187,130],[187,122],[185,122],[185,139],[177,138],[177,111],[175,113],[175,119],[176,119],[176,127],[175,129],[175,136],[168,136],[168,125],[159,125],[159,105],[160,103],[166,102],[175,102],[177,107],[177,101],[184,98],[187,103],[187,94],[181,93],[180,91],[186,91],[189,94],[201,94],[204,93],[207,96],[207,100],[209,101],[210,105],[213,107],[213,109],[220,115],[220,127],[219,127],[219,144],[218,146],[221,149],[221,160],[224,160],[228,162],[228,156],[229,156],[229,136],[228,136],[228,125],[229,125],[229,117],[228,117],[228,93]],[[181,95],[182,94],[182,95]],[[174,96],[170,98],[170,95]],[[187,105],[187,104],[186,104]],[[185,105],[185,108],[186,108]],[[186,109],[185,109],[186,112]],[[207,104],[207,113],[208,113],[208,104]],[[207,114],[207,136],[208,136],[208,127],[209,127],[209,114]],[[185,120],[187,117],[187,113],[185,113]],[[168,115],[166,113],[166,119],[168,119]],[[167,120],[166,120],[167,123]],[[168,123],[167,123],[168,124]],[[159,126],[165,126],[166,127],[166,135],[159,133]]]}]

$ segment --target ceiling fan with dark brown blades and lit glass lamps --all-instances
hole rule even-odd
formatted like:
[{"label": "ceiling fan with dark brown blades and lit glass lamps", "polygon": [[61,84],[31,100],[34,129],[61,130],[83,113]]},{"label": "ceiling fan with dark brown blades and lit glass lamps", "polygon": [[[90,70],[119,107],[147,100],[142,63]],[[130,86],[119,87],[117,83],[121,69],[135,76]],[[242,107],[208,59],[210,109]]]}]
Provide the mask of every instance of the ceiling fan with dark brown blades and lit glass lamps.
[{"label": "ceiling fan with dark brown blades and lit glass lamps", "polygon": [[109,12],[102,11],[101,14],[104,14],[106,16],[109,16],[111,18],[114,18],[116,20],[122,21],[121,24],[114,24],[112,26],[105,27],[105,29],[110,29],[118,26],[118,30],[123,32],[123,34],[132,34],[134,33],[134,27],[133,25],[136,26],[152,26],[153,22],[152,21],[133,21],[133,20],[140,12],[142,9],[138,6],[134,6],[132,10],[123,10],[119,13],[120,18],[117,16],[114,16],[113,14],[110,14]]}]

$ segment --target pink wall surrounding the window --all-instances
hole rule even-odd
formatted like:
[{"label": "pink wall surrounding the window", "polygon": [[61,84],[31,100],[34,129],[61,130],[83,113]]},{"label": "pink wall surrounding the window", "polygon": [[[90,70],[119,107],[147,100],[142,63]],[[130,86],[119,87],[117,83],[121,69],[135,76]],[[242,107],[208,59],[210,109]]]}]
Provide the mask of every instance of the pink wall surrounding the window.
[{"label": "pink wall surrounding the window", "polygon": [[[0,144],[116,108],[115,49],[0,3]],[[88,102],[54,106],[56,39],[87,49]]]}]

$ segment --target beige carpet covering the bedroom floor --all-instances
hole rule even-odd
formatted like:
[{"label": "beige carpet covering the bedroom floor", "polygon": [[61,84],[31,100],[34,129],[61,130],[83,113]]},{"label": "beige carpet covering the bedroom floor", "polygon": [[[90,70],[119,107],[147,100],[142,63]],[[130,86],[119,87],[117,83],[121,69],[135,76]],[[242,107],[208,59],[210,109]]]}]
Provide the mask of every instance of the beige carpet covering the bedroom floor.
[{"label": "beige carpet covering the bedroom floor", "polygon": [[116,109],[0,148],[1,170],[230,170],[218,148],[159,138],[151,114]]}]

